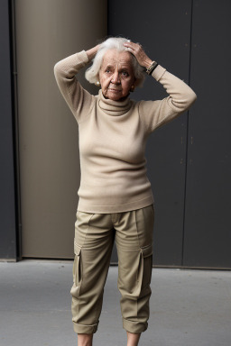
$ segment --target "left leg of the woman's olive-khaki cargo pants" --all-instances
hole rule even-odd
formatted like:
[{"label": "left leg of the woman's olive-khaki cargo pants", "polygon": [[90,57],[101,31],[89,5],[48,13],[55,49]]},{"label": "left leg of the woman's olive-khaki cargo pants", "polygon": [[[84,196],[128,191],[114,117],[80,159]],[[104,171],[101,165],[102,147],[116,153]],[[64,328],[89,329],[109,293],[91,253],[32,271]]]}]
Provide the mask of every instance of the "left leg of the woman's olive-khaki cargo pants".
[{"label": "left leg of the woman's olive-khaki cargo pants", "polygon": [[75,332],[97,332],[114,234],[109,214],[77,213],[70,290]]}]

